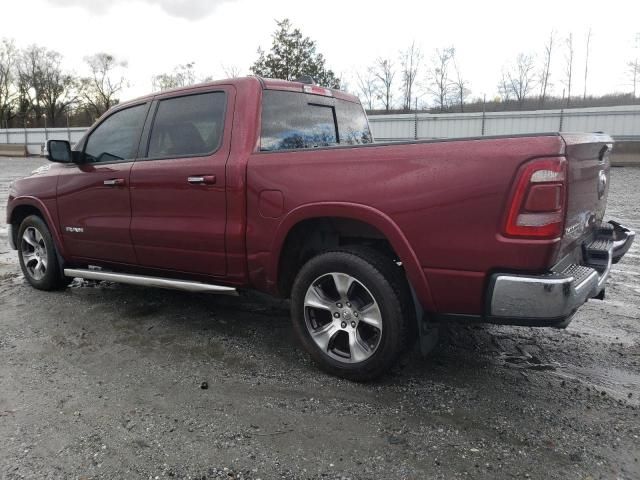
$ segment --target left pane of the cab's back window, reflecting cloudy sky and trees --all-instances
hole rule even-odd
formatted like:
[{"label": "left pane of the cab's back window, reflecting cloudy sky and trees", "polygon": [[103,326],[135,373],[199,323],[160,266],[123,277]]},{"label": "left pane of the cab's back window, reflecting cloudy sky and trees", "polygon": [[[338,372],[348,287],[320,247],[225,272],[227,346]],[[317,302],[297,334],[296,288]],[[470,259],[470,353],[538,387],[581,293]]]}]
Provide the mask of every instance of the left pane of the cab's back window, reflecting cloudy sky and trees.
[{"label": "left pane of the cab's back window, reflecting cloudy sky and trees", "polygon": [[335,110],[301,93],[265,90],[260,149],[328,147],[338,143]]}]

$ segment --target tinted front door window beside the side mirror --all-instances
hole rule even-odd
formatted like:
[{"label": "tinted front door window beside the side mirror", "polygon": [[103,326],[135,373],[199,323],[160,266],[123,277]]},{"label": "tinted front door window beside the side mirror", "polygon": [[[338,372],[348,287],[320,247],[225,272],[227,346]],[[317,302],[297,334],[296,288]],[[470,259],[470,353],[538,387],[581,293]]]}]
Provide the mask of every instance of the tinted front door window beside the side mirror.
[{"label": "tinted front door window beside the side mirror", "polygon": [[87,139],[86,160],[99,163],[133,159],[146,111],[146,104],[125,108],[98,125]]}]

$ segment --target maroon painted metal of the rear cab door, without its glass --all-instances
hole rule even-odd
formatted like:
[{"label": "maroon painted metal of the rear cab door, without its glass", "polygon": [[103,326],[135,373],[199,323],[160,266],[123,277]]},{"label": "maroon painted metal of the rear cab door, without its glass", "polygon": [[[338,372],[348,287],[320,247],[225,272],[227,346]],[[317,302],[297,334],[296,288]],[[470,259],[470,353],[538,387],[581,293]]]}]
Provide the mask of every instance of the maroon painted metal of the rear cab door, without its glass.
[{"label": "maroon painted metal of the rear cab door, without its glass", "polygon": [[[223,91],[232,118],[235,89],[197,87],[183,94]],[[159,95],[157,100],[170,98]],[[145,267],[223,277],[226,274],[225,165],[231,122],[220,146],[209,156],[136,161],[131,170],[131,239],[138,263]],[[210,177],[194,185],[189,177]]]}]

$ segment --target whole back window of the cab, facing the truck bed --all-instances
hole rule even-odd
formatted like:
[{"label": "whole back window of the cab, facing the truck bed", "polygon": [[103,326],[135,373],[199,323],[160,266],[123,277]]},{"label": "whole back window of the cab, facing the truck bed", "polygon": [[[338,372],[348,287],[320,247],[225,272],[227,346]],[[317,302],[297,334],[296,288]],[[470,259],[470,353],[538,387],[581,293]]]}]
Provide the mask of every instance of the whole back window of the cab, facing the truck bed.
[{"label": "whole back window of the cab, facing the truck bed", "polygon": [[367,117],[358,103],[305,93],[265,90],[263,151],[371,143]]}]

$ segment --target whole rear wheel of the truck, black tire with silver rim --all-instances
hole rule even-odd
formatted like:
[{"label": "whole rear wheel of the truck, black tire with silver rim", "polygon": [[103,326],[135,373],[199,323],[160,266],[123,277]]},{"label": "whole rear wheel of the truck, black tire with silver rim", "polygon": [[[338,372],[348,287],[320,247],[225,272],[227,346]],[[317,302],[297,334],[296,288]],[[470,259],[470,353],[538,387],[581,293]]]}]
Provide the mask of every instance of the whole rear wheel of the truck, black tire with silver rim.
[{"label": "whole rear wheel of the truck, black tire with silver rim", "polygon": [[376,250],[355,246],[303,265],[293,283],[291,318],[299,342],[323,370],[367,381],[407,348],[415,310],[403,271]]}]

